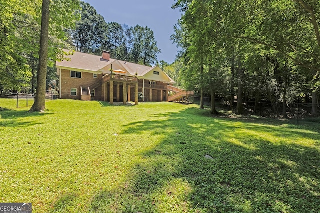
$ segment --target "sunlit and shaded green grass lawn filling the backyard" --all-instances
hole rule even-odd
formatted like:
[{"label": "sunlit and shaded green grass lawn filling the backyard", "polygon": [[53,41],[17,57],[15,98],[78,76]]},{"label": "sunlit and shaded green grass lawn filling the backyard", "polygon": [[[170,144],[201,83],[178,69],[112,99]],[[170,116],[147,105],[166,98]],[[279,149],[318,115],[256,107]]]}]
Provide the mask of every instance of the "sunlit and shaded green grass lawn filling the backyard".
[{"label": "sunlit and shaded green grass lawn filling the backyard", "polygon": [[320,212],[318,123],[165,102],[15,107],[0,99],[0,202],[34,213]]}]

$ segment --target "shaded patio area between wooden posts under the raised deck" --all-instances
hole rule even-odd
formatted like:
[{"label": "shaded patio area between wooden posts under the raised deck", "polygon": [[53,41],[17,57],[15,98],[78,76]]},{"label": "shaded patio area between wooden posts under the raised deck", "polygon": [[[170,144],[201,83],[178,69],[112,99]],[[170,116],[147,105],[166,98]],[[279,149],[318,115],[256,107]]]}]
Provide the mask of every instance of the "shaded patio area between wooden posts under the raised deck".
[{"label": "shaded patio area between wooden posts under the raised deck", "polygon": [[[122,86],[122,88],[120,87]],[[115,88],[114,88],[115,87]],[[122,96],[123,104],[131,101],[131,88],[134,88],[134,104],[138,104],[138,79],[137,77],[109,74],[102,79],[102,97],[104,101],[109,100],[113,104],[114,99],[120,101]],[[122,90],[122,94],[120,91]]]}]

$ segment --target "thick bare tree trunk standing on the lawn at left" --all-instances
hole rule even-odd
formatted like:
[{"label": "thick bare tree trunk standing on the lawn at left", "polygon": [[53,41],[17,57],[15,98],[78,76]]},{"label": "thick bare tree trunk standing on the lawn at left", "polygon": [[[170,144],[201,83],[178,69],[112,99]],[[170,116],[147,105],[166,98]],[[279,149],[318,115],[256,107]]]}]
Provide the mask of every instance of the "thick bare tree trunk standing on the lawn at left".
[{"label": "thick bare tree trunk standing on the lawn at left", "polygon": [[36,85],[36,95],[30,111],[40,112],[45,109],[45,86],[49,40],[49,7],[50,0],[42,0],[39,70]]}]

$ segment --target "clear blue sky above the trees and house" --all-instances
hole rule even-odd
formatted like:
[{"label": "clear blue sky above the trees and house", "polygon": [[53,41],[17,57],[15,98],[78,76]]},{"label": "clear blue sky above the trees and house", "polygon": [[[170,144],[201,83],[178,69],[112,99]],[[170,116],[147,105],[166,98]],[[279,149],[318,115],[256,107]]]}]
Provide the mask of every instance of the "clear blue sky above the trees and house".
[{"label": "clear blue sky above the trees and house", "polygon": [[172,9],[174,0],[84,0],[101,14],[106,22],[128,26],[148,26],[154,31],[157,46],[161,49],[158,60],[174,62],[178,48],[172,44],[173,26],[181,17],[179,9]]}]

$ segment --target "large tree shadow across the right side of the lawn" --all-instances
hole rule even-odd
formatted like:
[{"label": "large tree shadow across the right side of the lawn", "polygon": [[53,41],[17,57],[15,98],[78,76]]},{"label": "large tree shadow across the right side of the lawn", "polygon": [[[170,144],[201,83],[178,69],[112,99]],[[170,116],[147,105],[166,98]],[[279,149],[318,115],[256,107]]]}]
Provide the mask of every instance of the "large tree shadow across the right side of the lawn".
[{"label": "large tree shadow across the right side of the lawn", "polygon": [[205,113],[124,125],[121,134],[163,139],[139,153],[122,187],[97,194],[90,212],[320,211],[318,131]]}]

